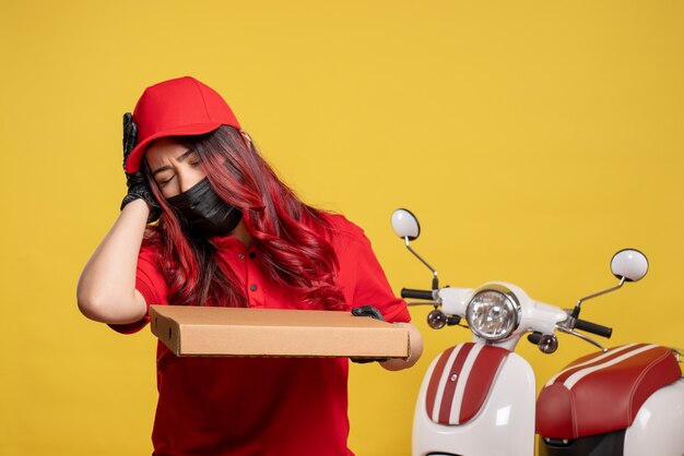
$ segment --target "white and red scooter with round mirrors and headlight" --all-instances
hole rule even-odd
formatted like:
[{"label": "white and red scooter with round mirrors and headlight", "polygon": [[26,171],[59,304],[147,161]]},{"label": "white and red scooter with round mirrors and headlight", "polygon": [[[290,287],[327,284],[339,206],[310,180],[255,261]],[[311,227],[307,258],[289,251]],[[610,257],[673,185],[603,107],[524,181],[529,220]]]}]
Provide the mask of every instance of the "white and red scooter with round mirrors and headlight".
[{"label": "white and red scooter with round mirrors and headlight", "polygon": [[[404,288],[401,296],[424,301],[409,305],[434,305],[427,315],[432,328],[464,326],[473,336],[438,355],[425,374],[414,412],[414,456],[533,455],[535,432],[544,456],[684,455],[682,355],[649,344],[606,349],[578,332],[611,336],[610,327],[579,319],[581,304],[641,279],[648,272],[641,252],[617,252],[611,261],[617,286],[564,310],[503,281],[440,288],[437,272],[411,247],[421,231],[417,218],[398,209],[391,223],[433,273],[431,289]],[[514,350],[528,334],[542,352],[553,353],[556,333],[600,351],[554,375],[536,399],[534,372]]]}]

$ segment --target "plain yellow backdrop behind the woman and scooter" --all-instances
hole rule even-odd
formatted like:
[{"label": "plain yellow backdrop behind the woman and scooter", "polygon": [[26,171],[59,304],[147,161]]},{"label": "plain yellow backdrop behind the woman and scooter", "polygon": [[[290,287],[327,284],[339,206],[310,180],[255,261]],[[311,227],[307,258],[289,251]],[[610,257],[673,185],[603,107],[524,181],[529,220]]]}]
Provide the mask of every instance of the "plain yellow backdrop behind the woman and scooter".
[{"label": "plain yellow backdrop behind the woman and scooter", "polygon": [[[142,455],[149,331],[76,310],[81,268],[125,193],[121,115],[191,74],[232,105],[299,195],[366,229],[392,286],[503,279],[570,307],[642,249],[649,275],[586,304],[611,344],[684,346],[684,3],[669,1],[2,1],[0,454]],[[354,365],[350,444],[409,455],[429,360],[468,340],[425,324],[411,371]],[[592,347],[521,343],[538,384]]]}]

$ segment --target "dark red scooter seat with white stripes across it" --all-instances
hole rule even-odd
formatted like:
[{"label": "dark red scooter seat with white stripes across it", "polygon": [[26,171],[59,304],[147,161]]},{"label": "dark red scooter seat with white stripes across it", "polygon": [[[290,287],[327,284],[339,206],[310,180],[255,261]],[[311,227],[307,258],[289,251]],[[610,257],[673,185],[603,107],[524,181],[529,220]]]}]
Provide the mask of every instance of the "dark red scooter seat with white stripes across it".
[{"label": "dark red scooter seat with white stripes across it", "polygon": [[579,439],[626,429],[646,399],[682,376],[665,347],[629,344],[568,364],[542,388],[536,432]]}]

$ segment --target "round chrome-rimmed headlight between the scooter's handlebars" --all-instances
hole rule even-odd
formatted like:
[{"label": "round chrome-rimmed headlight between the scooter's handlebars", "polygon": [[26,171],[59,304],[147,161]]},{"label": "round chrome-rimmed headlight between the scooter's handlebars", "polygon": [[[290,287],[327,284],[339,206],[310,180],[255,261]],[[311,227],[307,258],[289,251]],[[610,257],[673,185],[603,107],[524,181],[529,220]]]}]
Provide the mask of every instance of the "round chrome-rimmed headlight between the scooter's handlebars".
[{"label": "round chrome-rimmed headlight between the scooter's handlebars", "polygon": [[475,335],[488,340],[505,339],[518,327],[520,303],[508,288],[487,285],[468,303],[465,319]]}]

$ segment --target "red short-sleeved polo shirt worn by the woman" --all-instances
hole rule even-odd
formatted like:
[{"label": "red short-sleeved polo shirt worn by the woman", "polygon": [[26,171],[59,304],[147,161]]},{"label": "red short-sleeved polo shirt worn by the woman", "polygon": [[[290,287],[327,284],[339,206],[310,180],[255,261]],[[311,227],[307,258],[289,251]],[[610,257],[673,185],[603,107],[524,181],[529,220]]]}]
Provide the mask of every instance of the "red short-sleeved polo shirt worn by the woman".
[{"label": "red short-sleeved polo shirt worn by the woman", "polygon": [[[374,305],[388,322],[409,322],[363,231],[342,216],[328,217],[345,309]],[[217,242],[249,307],[311,309],[262,275],[259,252],[235,238]],[[154,259],[141,249],[135,287],[148,304],[168,304]],[[130,333],[146,320],[114,327]],[[347,371],[346,358],[178,358],[160,343],[155,455],[350,455]]]}]

